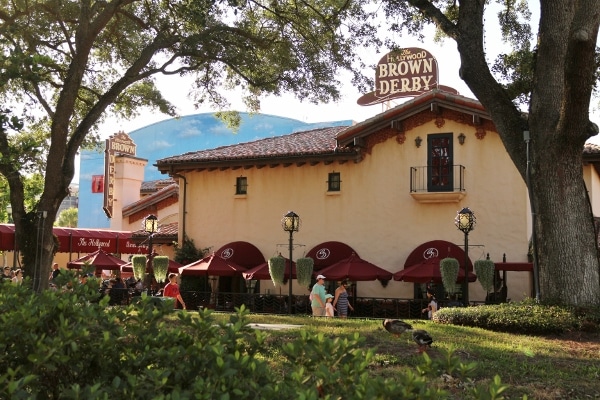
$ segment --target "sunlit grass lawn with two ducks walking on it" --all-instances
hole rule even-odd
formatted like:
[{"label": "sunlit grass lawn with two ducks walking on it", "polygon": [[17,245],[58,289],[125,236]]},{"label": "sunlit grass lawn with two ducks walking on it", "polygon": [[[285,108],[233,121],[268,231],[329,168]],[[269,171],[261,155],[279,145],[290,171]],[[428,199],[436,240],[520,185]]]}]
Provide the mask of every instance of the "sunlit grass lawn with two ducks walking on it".
[{"label": "sunlit grass lawn with two ducks walking on it", "polygon": [[[214,313],[219,321],[229,314]],[[369,367],[373,376],[394,377],[406,368],[422,363],[417,345],[410,333],[399,338],[388,333],[381,319],[326,319],[310,316],[251,314],[250,324],[293,324],[330,338],[349,337],[359,333],[365,347],[375,350]],[[505,398],[517,399],[600,399],[600,333],[573,332],[561,336],[526,336],[492,332],[478,328],[441,325],[426,320],[406,320],[415,329],[425,329],[434,343],[428,355],[445,363],[445,370],[436,373],[432,384],[451,394],[453,399],[465,398],[466,388],[486,385],[499,375],[509,385]],[[262,356],[277,369],[281,360],[279,349],[299,329],[265,330],[267,335]],[[453,352],[465,365],[476,363],[469,378],[461,377],[459,367],[448,359]],[[282,371],[280,371],[282,372]],[[450,372],[450,373],[448,373]]]}]

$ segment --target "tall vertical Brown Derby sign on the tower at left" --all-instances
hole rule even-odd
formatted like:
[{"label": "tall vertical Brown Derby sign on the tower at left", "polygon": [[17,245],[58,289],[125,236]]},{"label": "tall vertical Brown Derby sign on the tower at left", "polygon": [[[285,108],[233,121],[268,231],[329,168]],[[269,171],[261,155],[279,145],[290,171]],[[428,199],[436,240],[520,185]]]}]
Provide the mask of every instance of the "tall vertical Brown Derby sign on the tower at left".
[{"label": "tall vertical Brown Derby sign on the tower at left", "polygon": [[113,215],[113,201],[115,190],[115,157],[117,154],[135,156],[135,143],[125,132],[106,139],[104,150],[104,213],[108,218]]}]

